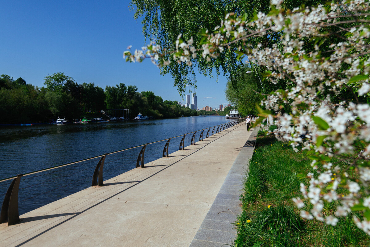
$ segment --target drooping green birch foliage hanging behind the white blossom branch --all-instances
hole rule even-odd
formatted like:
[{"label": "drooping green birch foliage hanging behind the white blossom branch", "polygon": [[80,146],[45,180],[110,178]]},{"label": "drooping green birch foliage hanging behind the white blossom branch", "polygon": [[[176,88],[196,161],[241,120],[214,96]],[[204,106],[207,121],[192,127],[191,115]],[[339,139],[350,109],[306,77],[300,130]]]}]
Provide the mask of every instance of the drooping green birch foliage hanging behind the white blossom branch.
[{"label": "drooping green birch foliage hanging behind the white blossom branch", "polygon": [[[299,7],[302,4],[307,6],[317,3],[325,3],[323,0],[285,0],[287,9]],[[165,59],[170,60],[169,66],[161,68],[162,74],[170,73],[174,78],[174,86],[178,87],[179,93],[185,94],[186,85],[196,83],[195,67],[204,74],[211,76],[215,69],[217,74],[223,74],[233,81],[238,77],[240,65],[243,61],[237,58],[240,44],[230,44],[229,49],[223,52],[217,59],[207,61],[199,51],[197,58],[192,60],[192,66],[185,63],[177,63],[173,59],[171,51],[176,50],[176,39],[179,34],[182,39],[187,41],[193,37],[193,45],[196,49],[201,48],[202,29],[212,31],[219,26],[225,17],[225,13],[234,12],[238,15],[246,14],[248,19],[252,19],[255,13],[270,11],[269,0],[250,0],[250,1],[206,1],[206,0],[173,0],[171,4],[167,0],[132,0],[131,10],[134,11],[135,19],[142,19],[143,34],[146,39],[155,40],[161,46]],[[263,47],[271,47],[280,42],[281,33],[269,33],[261,37],[249,39],[252,44],[260,43]],[[196,85],[195,85],[196,87]]]}]

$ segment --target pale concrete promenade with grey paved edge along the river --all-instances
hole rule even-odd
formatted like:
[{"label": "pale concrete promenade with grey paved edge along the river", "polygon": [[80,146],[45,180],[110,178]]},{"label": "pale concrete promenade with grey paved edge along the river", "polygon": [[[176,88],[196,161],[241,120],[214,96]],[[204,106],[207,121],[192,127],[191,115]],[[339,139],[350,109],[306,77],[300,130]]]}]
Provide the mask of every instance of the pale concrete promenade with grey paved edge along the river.
[{"label": "pale concrete promenade with grey paved edge along the river", "polygon": [[[89,187],[23,214],[19,224],[0,224],[0,246],[231,244],[240,181],[253,153],[242,147],[252,132],[237,124],[106,180],[103,187]],[[215,231],[231,233],[220,239]]]}]

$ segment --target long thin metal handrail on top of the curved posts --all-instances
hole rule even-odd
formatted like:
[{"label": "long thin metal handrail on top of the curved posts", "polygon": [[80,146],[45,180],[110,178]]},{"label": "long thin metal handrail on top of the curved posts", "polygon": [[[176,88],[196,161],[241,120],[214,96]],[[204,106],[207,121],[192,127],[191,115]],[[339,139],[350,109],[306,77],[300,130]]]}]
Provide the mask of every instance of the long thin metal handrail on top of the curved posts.
[{"label": "long thin metal handrail on top of the curved posts", "polygon": [[[225,124],[225,123],[223,123],[223,124]],[[223,125],[223,124],[218,124],[218,125],[215,125],[215,126],[212,126],[212,127],[203,128],[203,129],[201,129],[201,130],[206,130],[206,129],[208,129],[208,128],[213,128],[213,127],[220,126],[220,125]],[[80,163],[80,162],[83,162],[83,161],[87,161],[87,160],[92,160],[92,159],[95,159],[95,158],[103,157],[103,156],[105,156],[105,155],[110,155],[110,154],[120,153],[120,152],[127,151],[127,150],[130,150],[130,149],[133,149],[133,148],[138,148],[138,147],[142,147],[142,146],[145,146],[145,145],[158,143],[158,142],[161,142],[161,141],[166,141],[166,140],[168,140],[168,139],[177,138],[177,137],[184,136],[184,135],[188,135],[188,134],[191,134],[191,133],[195,133],[195,132],[198,132],[198,131],[201,131],[201,130],[192,131],[192,132],[189,132],[189,133],[186,133],[186,134],[181,134],[181,135],[179,135],[179,136],[169,137],[169,138],[166,138],[166,139],[163,139],[163,140],[154,141],[154,142],[151,142],[151,143],[142,144],[142,145],[135,146],[135,147],[125,148],[125,149],[118,150],[118,151],[114,151],[114,152],[111,152],[111,153],[105,153],[105,154],[101,154],[101,155],[98,155],[98,156],[94,156],[94,157],[90,157],[90,158],[85,158],[85,159],[83,159],[83,160],[73,161],[73,162],[70,162],[70,163],[61,164],[61,165],[57,165],[57,166],[53,166],[53,167],[48,167],[48,168],[44,168],[44,169],[37,170],[37,171],[30,171],[30,172],[28,172],[28,173],[18,174],[18,175],[16,175],[16,176],[12,176],[12,177],[2,178],[2,179],[0,179],[0,183],[1,183],[1,182],[4,182],[4,181],[7,181],[7,180],[11,180],[11,179],[17,178],[19,175],[23,175],[23,177],[24,177],[24,176],[28,176],[28,175],[32,175],[32,174],[36,174],[36,173],[40,173],[40,172],[42,172],[42,171],[53,170],[53,169],[56,169],[56,168],[59,168],[59,167],[69,166],[69,165],[76,164],[76,163]]]}]

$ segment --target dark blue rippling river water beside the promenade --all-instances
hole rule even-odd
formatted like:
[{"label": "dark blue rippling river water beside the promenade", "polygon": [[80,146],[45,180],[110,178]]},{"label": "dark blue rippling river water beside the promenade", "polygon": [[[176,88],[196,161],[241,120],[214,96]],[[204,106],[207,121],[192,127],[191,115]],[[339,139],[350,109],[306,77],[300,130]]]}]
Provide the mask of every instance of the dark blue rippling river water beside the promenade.
[{"label": "dark blue rippling river water beside the promenade", "polygon": [[[206,116],[134,122],[0,127],[0,179],[184,135],[229,121],[232,120],[225,119],[224,116]],[[206,137],[206,131],[203,138]],[[201,131],[196,133],[195,141],[199,140],[200,133]],[[185,147],[190,145],[191,137],[192,134],[186,135]],[[181,138],[171,139],[170,154],[179,150]],[[144,163],[162,157],[165,143],[162,141],[148,145]],[[141,147],[133,148],[107,156],[104,163],[104,180],[135,168],[140,150]],[[92,174],[98,161],[99,159],[84,161],[22,177],[19,187],[19,213],[26,213],[91,186]],[[0,203],[10,182],[11,180],[0,183]]]}]

